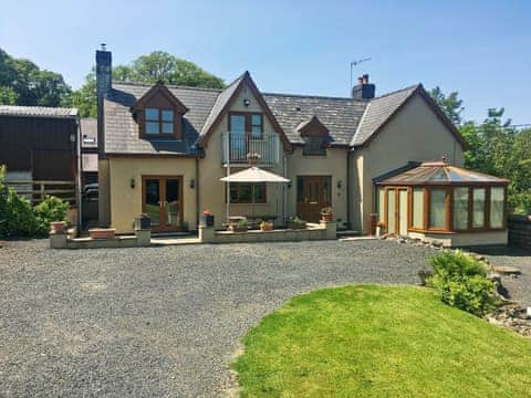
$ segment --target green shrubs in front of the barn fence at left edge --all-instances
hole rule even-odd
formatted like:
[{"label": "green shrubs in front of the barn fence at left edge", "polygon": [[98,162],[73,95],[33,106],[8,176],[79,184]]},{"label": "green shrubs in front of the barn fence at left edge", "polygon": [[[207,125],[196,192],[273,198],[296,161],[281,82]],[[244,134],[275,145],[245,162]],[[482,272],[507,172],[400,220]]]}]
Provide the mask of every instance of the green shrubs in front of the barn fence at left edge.
[{"label": "green shrubs in front of the barn fence at left edge", "polygon": [[4,184],[6,168],[0,166],[0,238],[44,234],[51,221],[64,220],[69,205],[54,197],[34,209]]}]

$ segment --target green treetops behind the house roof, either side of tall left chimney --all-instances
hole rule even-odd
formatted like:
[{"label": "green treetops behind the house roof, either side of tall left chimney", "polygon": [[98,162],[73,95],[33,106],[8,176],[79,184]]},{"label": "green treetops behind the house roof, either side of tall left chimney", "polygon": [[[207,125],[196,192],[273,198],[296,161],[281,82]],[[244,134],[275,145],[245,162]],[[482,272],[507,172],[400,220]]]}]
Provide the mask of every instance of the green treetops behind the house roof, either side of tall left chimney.
[{"label": "green treetops behind the house roof, either side of tall left chimney", "polygon": [[[167,84],[207,88],[222,88],[225,83],[195,63],[178,59],[164,51],[154,51],[142,55],[128,65],[113,67],[116,82],[136,82],[154,84],[164,81]],[[83,117],[96,117],[96,75],[94,69],[86,76],[85,84],[71,96],[71,105],[80,109]]]}]

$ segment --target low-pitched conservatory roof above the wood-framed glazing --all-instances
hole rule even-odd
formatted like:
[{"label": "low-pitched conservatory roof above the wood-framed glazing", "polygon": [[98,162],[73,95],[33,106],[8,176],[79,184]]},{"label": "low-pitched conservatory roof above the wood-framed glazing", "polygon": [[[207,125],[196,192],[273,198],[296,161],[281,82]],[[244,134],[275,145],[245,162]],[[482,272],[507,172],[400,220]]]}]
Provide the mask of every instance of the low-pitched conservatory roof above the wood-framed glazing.
[{"label": "low-pitched conservatory roof above the wood-framed glazing", "polygon": [[376,184],[384,186],[507,185],[509,180],[450,166],[446,161],[425,161],[418,167]]}]

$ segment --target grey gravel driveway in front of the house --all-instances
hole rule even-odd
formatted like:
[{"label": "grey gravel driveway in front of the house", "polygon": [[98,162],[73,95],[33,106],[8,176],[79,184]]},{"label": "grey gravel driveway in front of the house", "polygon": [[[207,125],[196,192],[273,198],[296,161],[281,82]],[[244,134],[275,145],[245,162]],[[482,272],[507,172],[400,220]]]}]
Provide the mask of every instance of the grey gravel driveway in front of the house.
[{"label": "grey gravel driveway in front of the house", "polygon": [[417,283],[427,248],[323,241],[148,249],[0,249],[7,397],[218,396],[239,339],[292,295]]}]

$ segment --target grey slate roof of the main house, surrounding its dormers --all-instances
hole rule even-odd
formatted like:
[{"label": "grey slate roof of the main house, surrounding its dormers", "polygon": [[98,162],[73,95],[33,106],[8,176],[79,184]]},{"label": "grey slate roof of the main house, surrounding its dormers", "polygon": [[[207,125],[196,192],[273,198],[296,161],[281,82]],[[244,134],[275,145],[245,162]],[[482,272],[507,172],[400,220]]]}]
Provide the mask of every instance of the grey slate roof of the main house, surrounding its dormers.
[{"label": "grey slate roof of the main house, surrounding its dormers", "polygon": [[[184,139],[142,139],[131,108],[153,85],[114,83],[105,107],[105,151],[107,154],[198,154],[196,144],[215,123],[246,73],[227,88],[199,88],[168,85],[168,90],[189,109],[184,115]],[[262,93],[274,118],[292,144],[303,144],[301,124],[312,116],[326,126],[331,145],[360,146],[417,92],[414,85],[367,100]]]}]

